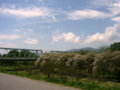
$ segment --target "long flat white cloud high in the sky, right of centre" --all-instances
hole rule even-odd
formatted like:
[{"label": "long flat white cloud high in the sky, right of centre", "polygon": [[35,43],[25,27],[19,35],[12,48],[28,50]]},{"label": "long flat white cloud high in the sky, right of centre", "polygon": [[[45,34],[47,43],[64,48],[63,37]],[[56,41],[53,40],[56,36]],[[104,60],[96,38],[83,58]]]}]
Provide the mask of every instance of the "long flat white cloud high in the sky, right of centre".
[{"label": "long flat white cloud high in the sky, right of centre", "polygon": [[68,14],[68,19],[70,20],[81,20],[85,18],[107,18],[110,17],[110,14],[96,10],[75,10]]}]

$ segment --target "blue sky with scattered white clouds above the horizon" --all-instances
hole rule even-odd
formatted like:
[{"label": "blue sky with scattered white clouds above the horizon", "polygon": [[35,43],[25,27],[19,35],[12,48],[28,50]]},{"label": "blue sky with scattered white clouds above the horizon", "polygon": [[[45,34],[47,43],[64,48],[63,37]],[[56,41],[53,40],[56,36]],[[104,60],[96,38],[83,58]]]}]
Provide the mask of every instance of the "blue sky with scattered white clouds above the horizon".
[{"label": "blue sky with scattered white clouds above the horizon", "polygon": [[120,0],[0,0],[0,47],[99,48],[120,41]]}]

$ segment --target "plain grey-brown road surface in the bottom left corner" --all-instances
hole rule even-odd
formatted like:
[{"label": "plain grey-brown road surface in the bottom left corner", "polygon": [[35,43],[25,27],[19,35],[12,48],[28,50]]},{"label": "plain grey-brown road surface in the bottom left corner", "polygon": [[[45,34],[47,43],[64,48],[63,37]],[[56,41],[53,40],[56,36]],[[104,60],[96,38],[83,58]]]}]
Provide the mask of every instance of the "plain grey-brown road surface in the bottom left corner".
[{"label": "plain grey-brown road surface in the bottom left corner", "polygon": [[0,73],[0,90],[78,90],[44,81]]}]

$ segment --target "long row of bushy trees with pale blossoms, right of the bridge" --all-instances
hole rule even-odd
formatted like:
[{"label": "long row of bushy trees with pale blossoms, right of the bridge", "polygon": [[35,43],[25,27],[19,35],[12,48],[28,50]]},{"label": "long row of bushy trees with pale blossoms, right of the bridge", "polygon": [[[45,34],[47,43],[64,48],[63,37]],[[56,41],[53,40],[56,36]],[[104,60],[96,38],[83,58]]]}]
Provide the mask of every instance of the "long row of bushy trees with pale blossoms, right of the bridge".
[{"label": "long row of bushy trees with pale blossoms, right of the bridge", "polygon": [[[116,43],[115,47],[116,47]],[[48,78],[58,75],[61,79],[76,78],[76,81],[89,75],[113,77],[120,79],[120,50],[109,47],[101,53],[47,53],[36,61],[35,65]],[[117,43],[120,45],[120,43]],[[93,76],[93,77],[94,77]]]}]

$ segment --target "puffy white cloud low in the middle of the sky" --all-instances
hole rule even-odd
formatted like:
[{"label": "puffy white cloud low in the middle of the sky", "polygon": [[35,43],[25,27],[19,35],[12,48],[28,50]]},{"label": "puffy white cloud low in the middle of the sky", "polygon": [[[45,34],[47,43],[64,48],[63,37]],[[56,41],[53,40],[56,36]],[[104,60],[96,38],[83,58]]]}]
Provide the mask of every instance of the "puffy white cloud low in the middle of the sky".
[{"label": "puffy white cloud low in the middle of the sky", "polygon": [[76,36],[72,32],[59,34],[59,31],[57,30],[56,33],[54,33],[54,35],[52,36],[52,38],[55,42],[58,42],[61,39],[64,39],[65,42],[80,42],[80,36]]}]

